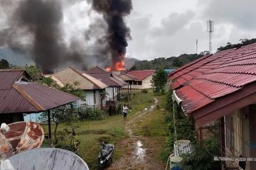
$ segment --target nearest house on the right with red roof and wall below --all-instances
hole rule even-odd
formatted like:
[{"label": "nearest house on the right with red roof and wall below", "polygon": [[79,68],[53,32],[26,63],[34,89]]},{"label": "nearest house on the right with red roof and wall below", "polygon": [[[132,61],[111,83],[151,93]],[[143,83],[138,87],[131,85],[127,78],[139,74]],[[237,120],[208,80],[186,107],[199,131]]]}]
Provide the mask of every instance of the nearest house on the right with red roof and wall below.
[{"label": "nearest house on the right with red roof and wall below", "polygon": [[256,169],[256,43],[201,57],[169,80],[175,101],[197,129],[220,122],[222,154],[215,160],[226,169],[239,169],[239,161]]}]

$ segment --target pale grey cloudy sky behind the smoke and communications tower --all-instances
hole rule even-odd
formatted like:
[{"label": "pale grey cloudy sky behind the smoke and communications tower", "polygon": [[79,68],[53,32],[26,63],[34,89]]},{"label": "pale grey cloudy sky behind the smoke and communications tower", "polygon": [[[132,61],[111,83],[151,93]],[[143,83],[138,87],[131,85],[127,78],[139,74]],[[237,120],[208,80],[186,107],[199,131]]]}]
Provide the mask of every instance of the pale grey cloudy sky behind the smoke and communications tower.
[{"label": "pale grey cloudy sky behind the smoke and communications tower", "polygon": [[[4,0],[0,0],[4,1]],[[65,40],[83,39],[90,23],[100,14],[82,0],[63,1]],[[213,52],[227,42],[256,38],[255,0],[133,0],[133,11],[125,18],[131,30],[127,57],[153,60],[183,53],[209,50],[207,21],[214,21]],[[0,29],[6,25],[6,13],[0,10]],[[93,39],[85,42],[93,45]],[[86,51],[86,50],[85,50]]]}]

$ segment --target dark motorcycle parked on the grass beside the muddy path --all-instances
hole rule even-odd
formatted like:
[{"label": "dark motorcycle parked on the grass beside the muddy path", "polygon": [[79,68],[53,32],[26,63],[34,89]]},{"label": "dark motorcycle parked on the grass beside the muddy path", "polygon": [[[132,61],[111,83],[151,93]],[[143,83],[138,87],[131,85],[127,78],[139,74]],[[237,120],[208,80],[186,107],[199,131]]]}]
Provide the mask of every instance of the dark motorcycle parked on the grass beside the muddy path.
[{"label": "dark motorcycle parked on the grass beside the muddy path", "polygon": [[114,145],[112,144],[103,144],[102,149],[99,154],[99,169],[105,169],[108,165],[111,164],[114,157]]}]

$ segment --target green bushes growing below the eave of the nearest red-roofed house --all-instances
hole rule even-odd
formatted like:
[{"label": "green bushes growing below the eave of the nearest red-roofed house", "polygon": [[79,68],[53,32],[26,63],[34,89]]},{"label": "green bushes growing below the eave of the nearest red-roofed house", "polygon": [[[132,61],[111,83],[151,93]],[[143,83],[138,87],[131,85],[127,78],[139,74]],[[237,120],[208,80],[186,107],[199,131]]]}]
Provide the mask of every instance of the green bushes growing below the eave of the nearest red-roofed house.
[{"label": "green bushes growing below the eave of the nearest red-roofed house", "polygon": [[193,126],[193,118],[187,117],[177,103],[172,101],[172,91],[167,94],[166,109],[169,115],[166,116],[166,122],[169,123],[169,137],[166,142],[166,148],[161,153],[161,158],[165,161],[169,155],[173,153],[174,142],[176,140],[174,133],[174,115],[173,107],[175,107],[175,124],[177,140],[190,140],[193,146],[193,153],[183,155],[182,168],[183,170],[218,170],[220,162],[214,162],[212,155],[220,155],[220,140],[218,133],[214,137],[206,140],[199,145],[196,138],[196,131]]}]

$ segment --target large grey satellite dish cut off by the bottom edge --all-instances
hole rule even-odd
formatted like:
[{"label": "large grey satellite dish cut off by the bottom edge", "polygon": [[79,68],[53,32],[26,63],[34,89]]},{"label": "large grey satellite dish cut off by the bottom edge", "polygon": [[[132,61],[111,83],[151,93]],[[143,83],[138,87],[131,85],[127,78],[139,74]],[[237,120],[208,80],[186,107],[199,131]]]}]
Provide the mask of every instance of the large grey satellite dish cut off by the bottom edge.
[{"label": "large grey satellite dish cut off by the bottom edge", "polygon": [[21,170],[89,170],[78,155],[59,148],[31,149],[9,157],[9,161],[10,166]]}]

